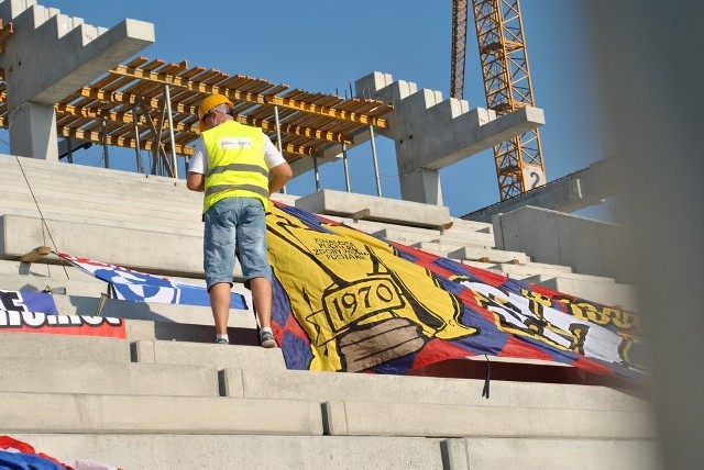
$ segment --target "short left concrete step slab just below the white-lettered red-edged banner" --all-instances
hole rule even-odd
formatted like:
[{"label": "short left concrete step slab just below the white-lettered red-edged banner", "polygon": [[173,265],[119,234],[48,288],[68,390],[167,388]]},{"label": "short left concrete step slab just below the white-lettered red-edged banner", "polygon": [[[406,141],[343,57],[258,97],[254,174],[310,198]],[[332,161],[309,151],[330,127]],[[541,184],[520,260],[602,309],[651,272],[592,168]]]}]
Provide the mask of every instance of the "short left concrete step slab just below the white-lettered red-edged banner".
[{"label": "short left concrete step slab just below the white-lettered red-edged banner", "polygon": [[82,359],[130,362],[130,343],[97,336],[0,332],[1,358]]}]

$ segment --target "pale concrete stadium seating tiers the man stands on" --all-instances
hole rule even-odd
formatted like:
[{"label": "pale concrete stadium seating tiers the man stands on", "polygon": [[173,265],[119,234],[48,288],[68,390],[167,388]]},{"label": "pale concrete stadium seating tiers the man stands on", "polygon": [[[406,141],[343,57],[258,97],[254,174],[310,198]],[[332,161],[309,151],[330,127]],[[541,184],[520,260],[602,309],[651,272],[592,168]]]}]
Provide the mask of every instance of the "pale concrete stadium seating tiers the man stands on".
[{"label": "pale concrete stadium seating tiers the man stands on", "polygon": [[[371,209],[359,202],[354,212]],[[46,289],[59,314],[95,313],[105,283],[52,257],[19,260],[53,244],[202,282],[200,204],[183,181],[0,156],[0,289]],[[327,211],[496,272],[615,286],[499,249],[491,224]],[[231,315],[231,346],[211,344],[208,307],[109,300],[103,314],[127,318],[127,338],[0,333],[0,434],[124,469],[657,468],[648,404],[632,391],[496,379],[483,399],[476,379],[293,371],[255,346],[250,311]]]}]

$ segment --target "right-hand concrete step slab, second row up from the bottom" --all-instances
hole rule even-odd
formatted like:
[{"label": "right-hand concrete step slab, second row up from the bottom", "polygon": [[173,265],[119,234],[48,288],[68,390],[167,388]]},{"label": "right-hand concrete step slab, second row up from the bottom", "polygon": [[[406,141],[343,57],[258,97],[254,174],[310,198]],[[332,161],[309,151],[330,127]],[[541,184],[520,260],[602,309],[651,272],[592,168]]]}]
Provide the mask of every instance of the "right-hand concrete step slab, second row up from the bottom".
[{"label": "right-hand concrete step slab, second row up from the bottom", "polygon": [[[333,401],[324,403],[326,433],[425,437],[651,439],[649,414],[613,410],[472,406]],[[507,425],[510,423],[510,425]]]}]

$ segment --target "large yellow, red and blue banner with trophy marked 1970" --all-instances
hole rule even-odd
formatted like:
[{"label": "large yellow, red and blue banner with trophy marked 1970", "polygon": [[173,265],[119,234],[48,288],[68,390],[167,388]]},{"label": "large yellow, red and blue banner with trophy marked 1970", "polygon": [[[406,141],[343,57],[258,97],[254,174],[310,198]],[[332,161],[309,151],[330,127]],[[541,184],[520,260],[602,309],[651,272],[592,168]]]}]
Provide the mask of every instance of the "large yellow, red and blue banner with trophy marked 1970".
[{"label": "large yellow, red and blue banner with trophy marked 1970", "polygon": [[380,239],[279,203],[273,323],[289,369],[405,373],[475,355],[638,380],[637,316]]}]

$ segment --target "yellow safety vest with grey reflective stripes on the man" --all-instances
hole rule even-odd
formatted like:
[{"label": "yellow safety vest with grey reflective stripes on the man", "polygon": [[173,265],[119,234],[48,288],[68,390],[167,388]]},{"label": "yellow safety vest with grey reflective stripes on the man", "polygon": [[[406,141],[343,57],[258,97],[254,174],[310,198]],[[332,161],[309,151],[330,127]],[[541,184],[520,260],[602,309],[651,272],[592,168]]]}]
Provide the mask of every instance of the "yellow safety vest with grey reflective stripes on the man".
[{"label": "yellow safety vest with grey reflective stripes on the man", "polygon": [[226,121],[202,133],[208,156],[204,214],[226,198],[256,198],[266,208],[268,168],[264,160],[264,134],[258,127]]}]

